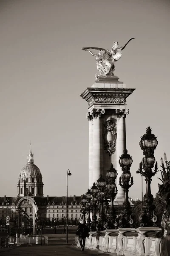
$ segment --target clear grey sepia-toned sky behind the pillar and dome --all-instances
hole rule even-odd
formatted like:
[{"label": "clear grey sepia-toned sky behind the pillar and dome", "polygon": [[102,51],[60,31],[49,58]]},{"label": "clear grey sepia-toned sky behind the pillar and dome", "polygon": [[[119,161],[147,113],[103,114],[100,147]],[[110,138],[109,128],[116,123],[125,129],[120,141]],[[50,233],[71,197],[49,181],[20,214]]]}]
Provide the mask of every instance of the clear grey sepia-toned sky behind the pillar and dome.
[{"label": "clear grey sepia-toned sky behind the pillar and dome", "polygon": [[[82,195],[88,189],[88,103],[79,95],[95,81],[96,61],[82,47],[124,45],[115,75],[127,88],[127,150],[134,185],[150,126],[155,157],[170,160],[170,2],[167,0],[0,0],[0,196],[16,196],[31,140],[44,196]],[[158,191],[153,177],[151,191]],[[144,186],[145,192],[145,186]]]}]

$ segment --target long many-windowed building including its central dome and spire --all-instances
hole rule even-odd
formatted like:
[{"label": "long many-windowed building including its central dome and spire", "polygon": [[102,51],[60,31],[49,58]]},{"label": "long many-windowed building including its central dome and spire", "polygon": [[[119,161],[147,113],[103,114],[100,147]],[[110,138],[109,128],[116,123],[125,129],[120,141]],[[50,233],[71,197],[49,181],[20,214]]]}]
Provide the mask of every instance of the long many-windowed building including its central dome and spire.
[{"label": "long many-windowed building including its central dome and spire", "polygon": [[[29,222],[37,219],[42,223],[66,220],[66,196],[43,196],[43,182],[40,169],[34,164],[34,154],[30,151],[27,164],[19,173],[16,197],[0,197],[0,224],[10,217],[10,225],[19,226],[24,219]],[[35,206],[37,208],[35,208]],[[68,221],[79,220],[81,217],[81,197],[68,197]],[[36,216],[37,215],[37,216]]]}]

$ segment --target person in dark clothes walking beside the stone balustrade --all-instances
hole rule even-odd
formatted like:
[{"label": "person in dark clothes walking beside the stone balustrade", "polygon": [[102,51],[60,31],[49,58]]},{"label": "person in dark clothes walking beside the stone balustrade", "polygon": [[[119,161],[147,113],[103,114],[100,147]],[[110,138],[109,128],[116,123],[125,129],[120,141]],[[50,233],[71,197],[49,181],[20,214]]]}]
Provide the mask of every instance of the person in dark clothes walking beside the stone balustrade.
[{"label": "person in dark clothes walking beside the stone balustrade", "polygon": [[[80,220],[81,221],[81,220]],[[79,227],[77,228],[76,235],[79,236],[79,243],[82,251],[85,249],[85,239],[89,237],[89,229],[85,224],[85,221],[81,221]]]}]

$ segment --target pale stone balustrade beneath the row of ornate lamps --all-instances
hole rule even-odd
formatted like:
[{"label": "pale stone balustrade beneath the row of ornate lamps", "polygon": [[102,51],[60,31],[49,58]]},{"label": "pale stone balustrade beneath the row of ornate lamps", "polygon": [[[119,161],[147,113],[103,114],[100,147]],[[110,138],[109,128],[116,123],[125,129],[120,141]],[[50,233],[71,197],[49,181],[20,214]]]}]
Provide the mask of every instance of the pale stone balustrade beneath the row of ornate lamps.
[{"label": "pale stone balustrade beneath the row of ornate lamps", "polygon": [[161,256],[161,239],[157,237],[160,230],[139,227],[90,232],[85,247],[119,256]]}]

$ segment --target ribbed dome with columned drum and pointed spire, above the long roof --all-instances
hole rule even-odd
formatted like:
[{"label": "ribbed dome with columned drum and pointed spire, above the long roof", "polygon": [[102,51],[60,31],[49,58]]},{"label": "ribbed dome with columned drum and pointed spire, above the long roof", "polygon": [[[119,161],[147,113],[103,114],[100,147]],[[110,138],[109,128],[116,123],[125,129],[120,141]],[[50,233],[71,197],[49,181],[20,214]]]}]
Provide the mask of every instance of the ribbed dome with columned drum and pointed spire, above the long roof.
[{"label": "ribbed dome with columned drum and pointed spire, above the long roof", "polygon": [[17,183],[17,196],[43,196],[43,182],[40,169],[34,164],[34,154],[30,151],[27,155],[27,164],[19,173]]}]

